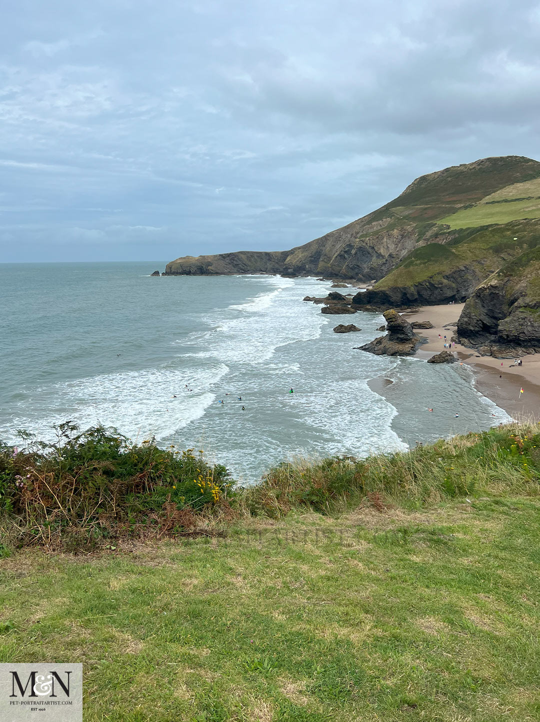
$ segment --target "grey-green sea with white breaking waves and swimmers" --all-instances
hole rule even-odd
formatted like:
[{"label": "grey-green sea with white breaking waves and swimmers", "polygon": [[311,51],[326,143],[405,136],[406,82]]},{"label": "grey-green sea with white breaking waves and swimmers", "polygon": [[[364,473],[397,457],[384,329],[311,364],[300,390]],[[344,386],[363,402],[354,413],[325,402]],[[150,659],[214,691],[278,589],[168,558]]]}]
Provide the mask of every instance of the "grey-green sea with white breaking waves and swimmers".
[{"label": "grey-green sea with white breaking waves and swimmers", "polygon": [[[509,418],[469,367],[355,350],[383,318],[302,302],[327,282],[149,277],[164,266],[0,264],[0,439],[101,423],[204,449],[253,482],[294,456],[405,449]],[[342,322],[362,331],[334,334]],[[386,398],[368,385],[379,377]]]}]

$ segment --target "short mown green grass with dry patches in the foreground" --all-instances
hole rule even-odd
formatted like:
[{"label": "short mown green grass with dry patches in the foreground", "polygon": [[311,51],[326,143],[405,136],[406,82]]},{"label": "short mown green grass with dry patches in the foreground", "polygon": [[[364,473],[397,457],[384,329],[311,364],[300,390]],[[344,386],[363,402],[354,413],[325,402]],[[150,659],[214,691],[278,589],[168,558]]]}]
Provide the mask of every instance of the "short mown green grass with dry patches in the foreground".
[{"label": "short mown green grass with dry patches in the foreground", "polygon": [[0,561],[0,660],[82,661],[84,720],[540,719],[540,502],[244,521]]}]

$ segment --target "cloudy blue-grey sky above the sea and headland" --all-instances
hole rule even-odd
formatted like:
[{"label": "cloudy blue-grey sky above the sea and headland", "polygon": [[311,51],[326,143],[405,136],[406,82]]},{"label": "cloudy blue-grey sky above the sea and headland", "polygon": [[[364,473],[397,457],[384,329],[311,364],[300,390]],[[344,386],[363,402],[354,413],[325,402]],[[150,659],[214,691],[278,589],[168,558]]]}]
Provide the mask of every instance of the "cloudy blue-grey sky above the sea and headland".
[{"label": "cloudy blue-grey sky above the sea and headland", "polygon": [[540,160],[539,47],[528,0],[5,3],[0,262],[287,249]]}]

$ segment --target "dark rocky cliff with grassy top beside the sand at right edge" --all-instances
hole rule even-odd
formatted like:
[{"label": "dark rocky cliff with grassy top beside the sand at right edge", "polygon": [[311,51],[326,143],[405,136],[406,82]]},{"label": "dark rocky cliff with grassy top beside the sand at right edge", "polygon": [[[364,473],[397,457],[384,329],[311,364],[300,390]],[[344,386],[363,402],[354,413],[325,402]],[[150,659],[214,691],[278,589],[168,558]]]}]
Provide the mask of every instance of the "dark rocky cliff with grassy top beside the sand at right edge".
[{"label": "dark rocky cliff with grassy top beside the sand at right edge", "polygon": [[458,336],[492,355],[540,351],[540,245],[474,291],[461,312]]}]

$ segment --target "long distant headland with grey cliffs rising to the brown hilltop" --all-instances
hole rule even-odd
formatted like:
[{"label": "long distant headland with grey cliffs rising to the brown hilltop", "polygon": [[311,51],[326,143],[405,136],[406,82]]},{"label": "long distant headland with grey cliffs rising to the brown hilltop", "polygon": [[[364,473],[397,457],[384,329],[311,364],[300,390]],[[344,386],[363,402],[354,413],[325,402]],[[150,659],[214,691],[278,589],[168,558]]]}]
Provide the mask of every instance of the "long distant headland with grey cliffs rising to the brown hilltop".
[{"label": "long distant headland with grey cliffs rising to the brown hilltop", "polygon": [[[518,156],[484,158],[445,168],[417,178],[377,211],[290,251],[185,256],[167,264],[165,273],[323,275],[361,282],[383,279],[418,248],[449,243],[456,235],[463,235],[451,223],[441,224],[438,219],[451,219],[467,206],[479,204],[484,196],[534,178],[540,178],[540,163]],[[426,287],[417,295],[423,299],[428,292]]]}]

